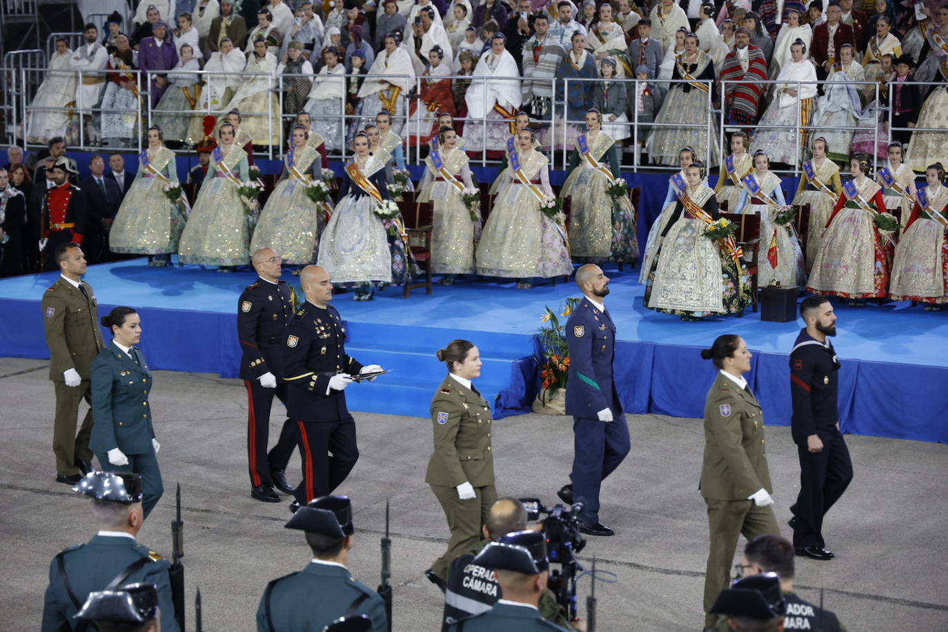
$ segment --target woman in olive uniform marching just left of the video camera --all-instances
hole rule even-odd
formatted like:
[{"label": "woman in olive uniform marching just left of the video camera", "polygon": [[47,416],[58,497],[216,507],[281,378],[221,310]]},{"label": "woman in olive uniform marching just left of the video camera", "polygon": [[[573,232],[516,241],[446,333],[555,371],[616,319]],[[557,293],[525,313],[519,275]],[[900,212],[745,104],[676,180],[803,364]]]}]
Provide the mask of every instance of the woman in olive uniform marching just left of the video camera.
[{"label": "woman in olive uniform marching just left of the video camera", "polygon": [[490,406],[471,380],[481,375],[481,352],[467,340],[452,340],[438,359],[449,371],[431,400],[434,452],[425,482],[441,503],[451,537],[447,551],[426,571],[442,590],[454,558],[476,551],[483,524],[497,500],[490,446]]}]

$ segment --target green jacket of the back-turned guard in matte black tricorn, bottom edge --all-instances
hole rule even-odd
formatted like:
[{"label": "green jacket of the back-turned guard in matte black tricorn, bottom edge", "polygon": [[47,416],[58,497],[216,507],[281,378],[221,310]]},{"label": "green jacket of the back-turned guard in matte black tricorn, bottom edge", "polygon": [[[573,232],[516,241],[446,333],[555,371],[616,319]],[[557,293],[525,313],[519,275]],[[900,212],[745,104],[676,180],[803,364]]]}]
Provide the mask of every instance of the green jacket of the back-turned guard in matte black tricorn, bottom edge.
[{"label": "green jacket of the back-turned guard in matte black tricorn, bottom edge", "polygon": [[367,615],[372,619],[375,632],[388,629],[385,602],[372,588],[356,582],[343,566],[310,562],[300,572],[281,577],[272,584],[269,612],[273,627],[267,622],[264,592],[257,608],[258,632],[321,630],[346,614],[349,606],[362,595],[367,599],[352,614]]}]

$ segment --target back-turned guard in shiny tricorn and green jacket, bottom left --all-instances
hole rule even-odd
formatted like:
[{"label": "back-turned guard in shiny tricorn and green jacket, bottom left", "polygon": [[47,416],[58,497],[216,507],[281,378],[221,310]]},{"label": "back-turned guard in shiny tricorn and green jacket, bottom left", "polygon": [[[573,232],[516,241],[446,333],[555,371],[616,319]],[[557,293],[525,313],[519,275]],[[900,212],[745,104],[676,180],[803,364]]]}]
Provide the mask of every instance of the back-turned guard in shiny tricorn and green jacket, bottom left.
[{"label": "back-turned guard in shiny tricorn and green jacket, bottom left", "polygon": [[117,586],[154,584],[164,632],[178,632],[174,619],[168,561],[135,536],[144,517],[141,478],[137,474],[89,472],[73,490],[91,497],[99,533],[87,544],[69,547],[49,565],[49,586],[43,604],[42,632],[75,629],[74,615],[89,593]]}]

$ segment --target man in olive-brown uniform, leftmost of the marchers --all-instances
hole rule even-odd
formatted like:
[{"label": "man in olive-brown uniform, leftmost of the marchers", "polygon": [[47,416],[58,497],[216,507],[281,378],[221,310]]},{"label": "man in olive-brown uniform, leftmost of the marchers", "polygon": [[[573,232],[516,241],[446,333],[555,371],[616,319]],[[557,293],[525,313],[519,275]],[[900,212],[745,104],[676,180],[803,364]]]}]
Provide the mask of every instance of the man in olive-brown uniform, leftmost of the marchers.
[{"label": "man in olive-brown uniform, leftmost of the marchers", "polygon": [[56,390],[53,453],[56,480],[75,485],[92,469],[89,436],[92,408],[85,413],[79,434],[79,404],[92,406],[90,367],[105,346],[92,286],[82,280],[85,255],[75,242],[60,244],[54,253],[60,278],[43,295],[43,330],[49,347],[49,379]]}]

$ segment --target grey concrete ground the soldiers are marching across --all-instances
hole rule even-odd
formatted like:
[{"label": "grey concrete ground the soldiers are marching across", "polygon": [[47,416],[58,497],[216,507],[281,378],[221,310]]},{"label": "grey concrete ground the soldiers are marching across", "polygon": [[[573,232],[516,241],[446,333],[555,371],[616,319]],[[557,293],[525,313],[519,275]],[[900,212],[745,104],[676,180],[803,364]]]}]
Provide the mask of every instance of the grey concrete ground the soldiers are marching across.
[{"label": "grey concrete ground the soldiers are marching across", "polygon": [[[436,385],[432,385],[435,388]],[[372,388],[356,385],[353,388]],[[200,587],[205,629],[251,630],[266,583],[309,560],[302,534],[283,529],[288,500],[249,497],[246,392],[237,380],[155,372],[155,430],[166,493],[139,540],[171,553],[173,489],[180,481],[189,600]],[[36,629],[49,561],[94,532],[81,497],[54,481],[53,396],[46,362],[0,359],[0,629]],[[280,406],[271,437],[282,423]],[[939,414],[943,415],[944,411]],[[445,549],[447,526],[425,484],[428,420],[356,413],[361,458],[339,493],[353,498],[356,550],[350,569],[378,583],[379,535],[392,501],[394,629],[437,630],[440,593],[424,570]],[[602,519],[615,528],[591,538],[581,559],[617,576],[599,583],[598,629],[679,631],[702,627],[707,553],[698,494],[701,420],[631,415],[632,452],[607,480]],[[784,535],[797,491],[787,427],[767,428],[775,511]],[[850,631],[948,630],[948,450],[941,444],[848,436],[855,479],[825,524],[831,562],[797,558],[799,592]],[[498,422],[498,492],[547,503],[573,458],[567,418],[537,414]],[[299,461],[291,461],[294,481]],[[590,589],[579,584],[580,603]],[[188,628],[194,629],[188,612]]]}]

